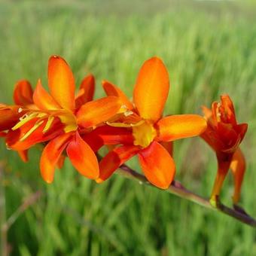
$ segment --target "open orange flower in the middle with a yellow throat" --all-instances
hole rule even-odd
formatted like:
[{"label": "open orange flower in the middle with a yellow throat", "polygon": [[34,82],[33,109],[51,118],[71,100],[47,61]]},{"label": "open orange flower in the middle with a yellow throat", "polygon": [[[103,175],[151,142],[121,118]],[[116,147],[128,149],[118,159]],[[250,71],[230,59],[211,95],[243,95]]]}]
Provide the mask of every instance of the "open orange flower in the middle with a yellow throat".
[{"label": "open orange flower in the middle with a yellow throat", "polygon": [[[195,114],[163,117],[163,108],[169,93],[169,75],[161,59],[148,59],[139,72],[133,93],[133,102],[114,84],[103,81],[108,96],[118,96],[126,108],[124,114],[108,122],[111,126],[126,127],[133,140],[120,136],[121,146],[110,151],[99,163],[98,182],[105,181],[115,169],[138,155],[146,178],[157,187],[166,189],[175,175],[172,156],[161,145],[176,139],[198,136],[206,130],[206,120]],[[116,138],[118,139],[118,138]]]}]

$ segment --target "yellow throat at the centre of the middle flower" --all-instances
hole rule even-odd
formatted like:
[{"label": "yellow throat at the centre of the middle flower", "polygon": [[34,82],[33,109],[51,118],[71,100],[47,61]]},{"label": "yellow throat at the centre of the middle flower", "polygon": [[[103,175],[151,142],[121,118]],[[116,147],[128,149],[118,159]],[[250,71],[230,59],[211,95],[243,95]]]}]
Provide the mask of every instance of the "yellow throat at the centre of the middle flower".
[{"label": "yellow throat at the centre of the middle flower", "polygon": [[139,126],[133,126],[133,144],[141,146],[142,148],[148,147],[157,136],[157,131],[154,129],[153,123],[145,120]]}]

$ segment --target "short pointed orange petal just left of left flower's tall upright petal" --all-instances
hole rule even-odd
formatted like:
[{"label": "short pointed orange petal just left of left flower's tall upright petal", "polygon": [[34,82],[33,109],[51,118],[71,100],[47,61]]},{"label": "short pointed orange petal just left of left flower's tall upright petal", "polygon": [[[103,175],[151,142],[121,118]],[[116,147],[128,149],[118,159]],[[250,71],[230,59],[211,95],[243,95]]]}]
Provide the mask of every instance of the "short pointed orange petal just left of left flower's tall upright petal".
[{"label": "short pointed orange petal just left of left flower's tall upright petal", "polygon": [[53,99],[53,97],[44,90],[41,85],[41,80],[38,80],[38,84],[35,87],[35,92],[33,94],[33,100],[35,105],[40,109],[55,110],[60,109],[60,105]]}]

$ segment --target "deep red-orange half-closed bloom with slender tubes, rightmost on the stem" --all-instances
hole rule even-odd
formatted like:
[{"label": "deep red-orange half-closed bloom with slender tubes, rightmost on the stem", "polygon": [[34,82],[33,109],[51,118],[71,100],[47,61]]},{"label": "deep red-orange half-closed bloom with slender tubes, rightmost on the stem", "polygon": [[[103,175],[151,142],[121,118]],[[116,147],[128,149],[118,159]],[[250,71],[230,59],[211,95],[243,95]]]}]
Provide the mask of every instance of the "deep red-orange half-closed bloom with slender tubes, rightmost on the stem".
[{"label": "deep red-orange half-closed bloom with slender tubes, rightmost on the stem", "polygon": [[[247,131],[247,123],[236,123],[233,102],[228,95],[221,96],[221,102],[212,103],[212,111],[203,107],[208,127],[201,137],[215,150],[218,160],[218,172],[212,190],[211,202],[218,201],[224,178],[228,169],[233,170],[235,192],[233,202],[239,200],[242,178],[245,172],[245,160],[239,144]],[[231,165],[231,166],[230,166]]]}]

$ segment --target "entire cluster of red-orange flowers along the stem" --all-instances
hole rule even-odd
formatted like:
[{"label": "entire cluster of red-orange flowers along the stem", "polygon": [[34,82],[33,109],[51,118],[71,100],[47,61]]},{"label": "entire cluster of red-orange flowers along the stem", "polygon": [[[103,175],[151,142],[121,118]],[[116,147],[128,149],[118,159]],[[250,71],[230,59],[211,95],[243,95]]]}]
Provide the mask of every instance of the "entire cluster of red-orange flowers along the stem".
[{"label": "entire cluster of red-orange flowers along the stem", "polygon": [[[172,142],[201,136],[215,150],[218,174],[212,200],[218,200],[228,169],[233,170],[235,193],[239,200],[245,160],[239,144],[247,130],[237,124],[229,96],[221,96],[212,110],[203,107],[205,117],[177,114],[163,117],[169,93],[169,75],[161,59],[148,59],[139,71],[133,100],[114,84],[102,81],[107,96],[94,99],[95,79],[87,75],[77,93],[72,70],[60,56],[48,63],[48,87],[41,81],[32,90],[29,81],[14,88],[14,105],[0,104],[0,136],[9,149],[28,161],[33,145],[44,145],[40,170],[51,183],[56,168],[66,157],[81,175],[100,183],[131,157],[151,184],[166,189],[175,176]],[[108,154],[98,160],[97,151],[108,145]]]}]

